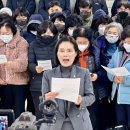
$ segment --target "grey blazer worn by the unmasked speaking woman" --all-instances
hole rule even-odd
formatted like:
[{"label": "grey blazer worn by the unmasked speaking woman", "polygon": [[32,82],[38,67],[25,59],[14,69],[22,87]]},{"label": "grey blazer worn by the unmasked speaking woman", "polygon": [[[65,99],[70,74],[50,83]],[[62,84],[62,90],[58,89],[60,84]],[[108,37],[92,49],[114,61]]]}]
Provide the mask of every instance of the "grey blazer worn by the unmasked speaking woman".
[{"label": "grey blazer worn by the unmasked speaking woman", "polygon": [[[52,77],[61,78],[60,66],[52,70],[45,71],[42,79],[42,93],[43,95],[51,91]],[[72,102],[68,102],[67,114],[72,123],[74,130],[92,130],[91,121],[87,106],[90,106],[94,100],[93,86],[90,81],[89,71],[73,65],[71,70],[71,78],[80,78],[79,94],[83,97],[80,106]],[[56,99],[59,109],[57,114],[57,121],[54,125],[48,126],[42,124],[42,130],[61,130],[63,122],[65,121],[65,106],[64,100]]]}]

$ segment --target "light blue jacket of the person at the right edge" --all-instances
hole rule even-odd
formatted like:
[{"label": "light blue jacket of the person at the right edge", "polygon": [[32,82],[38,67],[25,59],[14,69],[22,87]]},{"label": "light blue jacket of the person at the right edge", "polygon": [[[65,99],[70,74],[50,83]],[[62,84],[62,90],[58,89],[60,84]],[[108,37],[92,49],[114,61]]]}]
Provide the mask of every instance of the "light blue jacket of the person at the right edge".
[{"label": "light blue jacket of the person at the right edge", "polygon": [[[109,68],[119,67],[122,55],[123,55],[123,51],[119,51],[117,49],[116,52],[113,54],[112,59],[110,60],[110,62],[108,64],[108,67]],[[123,67],[125,67],[130,72],[130,56],[124,62]],[[114,82],[114,75],[112,75],[110,73],[108,73],[107,75],[108,75],[109,80],[113,82],[112,93],[111,93],[111,99],[113,100],[117,87],[118,87],[118,84]],[[119,91],[119,89],[120,89],[120,91]],[[127,93],[127,92],[130,92],[130,75],[123,77],[123,83],[119,84],[119,89],[118,89],[117,97],[119,95],[121,95],[121,97],[120,97],[121,102],[119,102],[119,100],[118,100],[119,98],[117,99],[117,101],[121,104],[130,104],[130,93]]]}]

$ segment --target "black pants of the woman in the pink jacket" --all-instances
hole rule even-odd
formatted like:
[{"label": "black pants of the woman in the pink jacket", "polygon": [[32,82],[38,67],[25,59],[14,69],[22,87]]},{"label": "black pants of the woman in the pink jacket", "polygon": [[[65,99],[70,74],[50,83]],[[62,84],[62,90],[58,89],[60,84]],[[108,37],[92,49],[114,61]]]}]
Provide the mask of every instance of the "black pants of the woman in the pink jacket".
[{"label": "black pants of the woman in the pink jacket", "polygon": [[13,109],[15,118],[24,112],[25,87],[26,85],[2,85],[1,101],[2,108]]}]

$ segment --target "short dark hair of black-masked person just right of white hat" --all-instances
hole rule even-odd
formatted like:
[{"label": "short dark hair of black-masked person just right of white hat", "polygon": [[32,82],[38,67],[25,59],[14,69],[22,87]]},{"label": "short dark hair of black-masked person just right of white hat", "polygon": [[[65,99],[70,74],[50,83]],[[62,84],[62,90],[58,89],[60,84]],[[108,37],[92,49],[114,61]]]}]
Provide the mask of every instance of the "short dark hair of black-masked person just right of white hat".
[{"label": "short dark hair of black-masked person just right of white hat", "polygon": [[14,21],[16,21],[16,17],[19,16],[19,15],[26,16],[27,20],[29,20],[30,14],[29,14],[28,10],[26,8],[24,8],[24,7],[18,7],[15,10],[15,12],[13,14]]}]

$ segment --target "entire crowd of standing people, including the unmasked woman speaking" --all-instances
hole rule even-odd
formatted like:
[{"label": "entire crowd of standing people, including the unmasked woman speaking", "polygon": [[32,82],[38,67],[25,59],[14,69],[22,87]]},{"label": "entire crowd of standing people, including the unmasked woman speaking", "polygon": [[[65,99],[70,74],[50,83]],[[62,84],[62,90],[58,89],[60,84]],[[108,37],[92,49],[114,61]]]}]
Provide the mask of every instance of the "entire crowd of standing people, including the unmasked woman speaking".
[{"label": "entire crowd of standing people, including the unmasked woman speaking", "polygon": [[[114,0],[111,15],[106,0],[39,0],[37,13],[35,0],[0,0],[0,109],[38,120],[42,96],[58,113],[41,130],[130,130],[130,75],[102,65],[130,72],[129,0]],[[76,102],[57,98],[52,78],[80,78]]]}]

